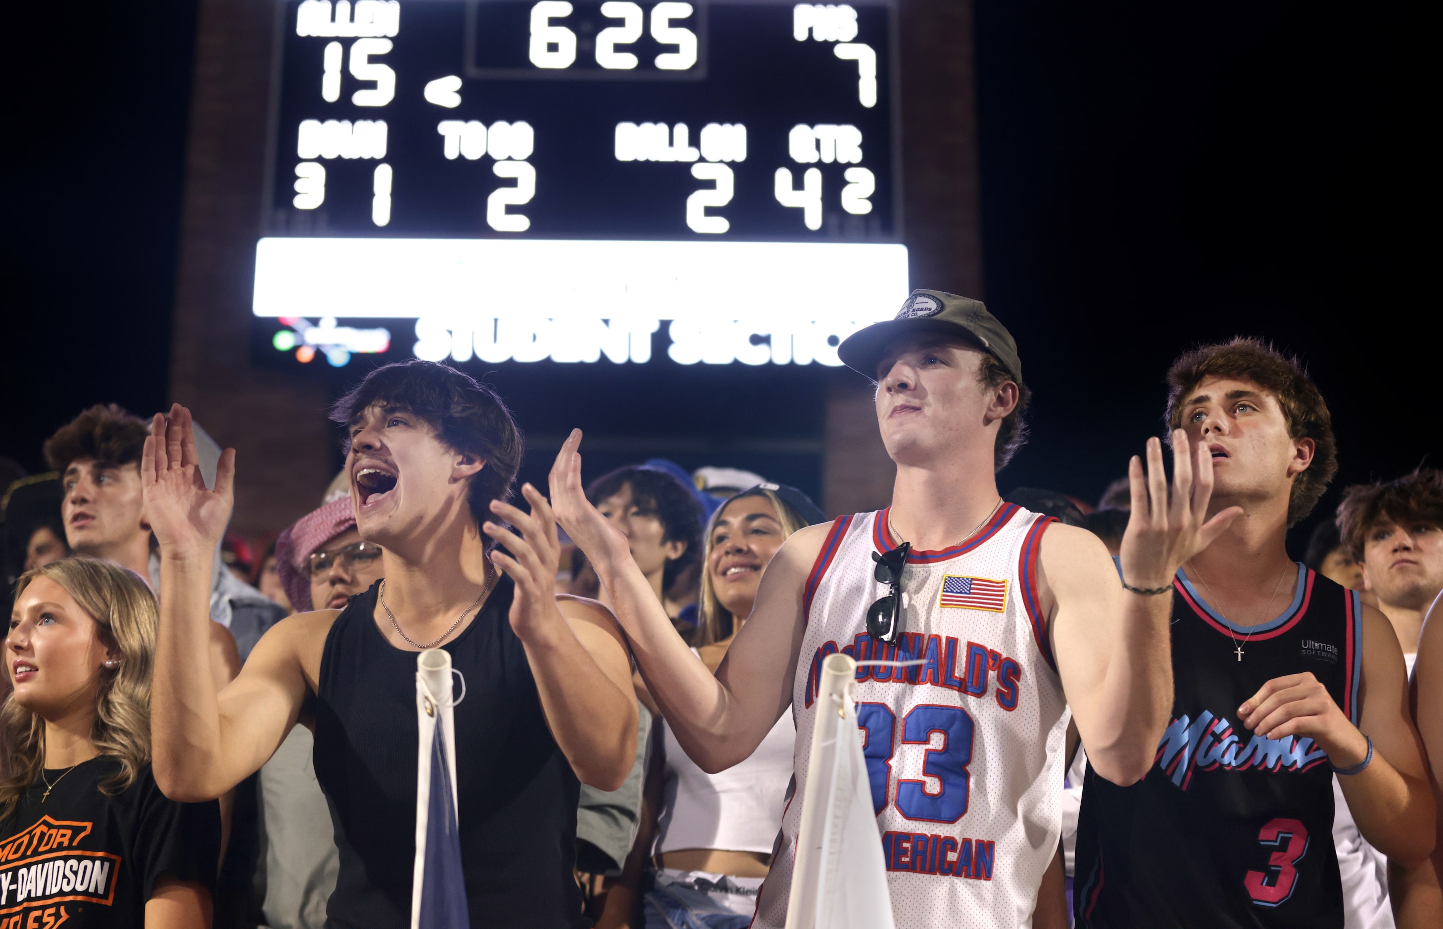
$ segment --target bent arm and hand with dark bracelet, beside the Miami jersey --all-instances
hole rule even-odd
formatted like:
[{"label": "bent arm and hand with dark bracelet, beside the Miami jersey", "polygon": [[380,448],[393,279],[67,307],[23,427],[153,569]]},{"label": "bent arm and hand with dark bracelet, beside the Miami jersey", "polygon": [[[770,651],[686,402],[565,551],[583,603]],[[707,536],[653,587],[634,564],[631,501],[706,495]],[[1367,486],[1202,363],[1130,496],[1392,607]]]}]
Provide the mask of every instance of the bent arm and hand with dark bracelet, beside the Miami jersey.
[{"label": "bent arm and hand with dark bracelet, beside the Miami jersey", "polygon": [[1088,762],[1098,775],[1130,785],[1147,773],[1173,704],[1173,574],[1222,534],[1241,508],[1206,518],[1212,457],[1173,433],[1169,499],[1162,443],[1147,441],[1147,472],[1128,463],[1133,512],[1123,535],[1123,580],[1117,583],[1102,542],[1082,529],[1052,527],[1042,537],[1040,599],[1051,617],[1053,655]]}]

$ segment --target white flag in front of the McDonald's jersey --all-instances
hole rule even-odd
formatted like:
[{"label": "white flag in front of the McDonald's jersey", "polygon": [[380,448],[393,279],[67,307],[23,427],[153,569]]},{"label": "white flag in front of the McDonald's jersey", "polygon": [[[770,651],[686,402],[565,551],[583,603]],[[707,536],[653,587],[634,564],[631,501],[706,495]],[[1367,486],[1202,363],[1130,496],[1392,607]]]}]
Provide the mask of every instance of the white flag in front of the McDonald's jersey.
[{"label": "white flag in front of the McDonald's jersey", "polygon": [[856,675],[857,662],[850,655],[823,661],[786,929],[893,929],[882,838],[851,703]]}]

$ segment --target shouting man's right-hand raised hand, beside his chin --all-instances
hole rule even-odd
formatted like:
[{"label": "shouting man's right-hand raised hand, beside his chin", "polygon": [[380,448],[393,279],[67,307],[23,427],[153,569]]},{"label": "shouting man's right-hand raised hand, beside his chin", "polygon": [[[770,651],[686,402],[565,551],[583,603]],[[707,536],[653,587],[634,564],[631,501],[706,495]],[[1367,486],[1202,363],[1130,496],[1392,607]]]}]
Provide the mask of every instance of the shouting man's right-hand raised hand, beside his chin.
[{"label": "shouting man's right-hand raised hand, beside his chin", "polygon": [[530,483],[521,485],[521,496],[531,503],[530,514],[511,503],[491,502],[491,512],[514,525],[515,531],[496,522],[483,522],[481,531],[506,547],[506,551],[494,550],[491,563],[517,586],[511,600],[511,629],[524,642],[530,632],[545,623],[564,620],[556,606],[556,571],[561,561],[556,518],[547,499]]}]

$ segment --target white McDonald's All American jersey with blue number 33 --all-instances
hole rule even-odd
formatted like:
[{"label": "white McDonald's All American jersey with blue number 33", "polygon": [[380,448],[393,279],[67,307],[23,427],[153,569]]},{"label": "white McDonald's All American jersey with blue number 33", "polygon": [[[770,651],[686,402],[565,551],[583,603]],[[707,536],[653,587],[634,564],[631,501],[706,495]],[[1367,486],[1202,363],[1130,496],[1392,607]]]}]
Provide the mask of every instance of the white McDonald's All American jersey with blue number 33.
[{"label": "white McDonald's All American jersey with blue number 33", "polygon": [[786,923],[821,662],[857,668],[857,723],[898,929],[1030,926],[1042,873],[1062,831],[1068,707],[1038,602],[1038,551],[1051,516],[1013,503],[971,538],[912,551],[902,571],[900,635],[867,635],[887,594],[872,552],[898,547],[889,509],[841,516],[807,578],[792,691],[795,780],[756,928]]}]

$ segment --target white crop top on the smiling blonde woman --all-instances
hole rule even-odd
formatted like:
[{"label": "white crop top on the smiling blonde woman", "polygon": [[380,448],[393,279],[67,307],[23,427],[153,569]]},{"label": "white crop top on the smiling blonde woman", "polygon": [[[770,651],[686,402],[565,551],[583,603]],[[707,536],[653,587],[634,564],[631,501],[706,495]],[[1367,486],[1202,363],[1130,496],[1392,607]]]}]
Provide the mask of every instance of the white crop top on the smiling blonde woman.
[{"label": "white crop top on the smiling blonde woman", "polygon": [[680,848],[771,854],[792,778],[792,718],[782,714],[749,759],[719,775],[697,767],[671,727],[659,724],[665,780],[655,854]]}]

